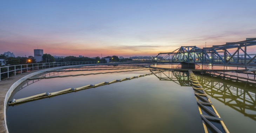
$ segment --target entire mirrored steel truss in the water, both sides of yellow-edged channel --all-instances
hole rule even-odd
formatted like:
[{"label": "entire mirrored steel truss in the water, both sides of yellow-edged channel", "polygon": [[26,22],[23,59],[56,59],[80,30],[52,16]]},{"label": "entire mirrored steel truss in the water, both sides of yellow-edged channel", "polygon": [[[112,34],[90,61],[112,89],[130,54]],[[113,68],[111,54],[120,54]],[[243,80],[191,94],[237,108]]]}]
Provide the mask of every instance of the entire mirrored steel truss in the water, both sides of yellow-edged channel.
[{"label": "entire mirrored steel truss in the water, both sides of yellow-edged channel", "polygon": [[[156,77],[160,80],[173,81],[181,86],[191,86],[187,72],[167,71],[157,74]],[[244,116],[256,120],[255,83],[230,77],[225,77],[228,80],[223,80],[216,75],[213,77],[197,75],[197,79],[209,96],[230,106]]]}]

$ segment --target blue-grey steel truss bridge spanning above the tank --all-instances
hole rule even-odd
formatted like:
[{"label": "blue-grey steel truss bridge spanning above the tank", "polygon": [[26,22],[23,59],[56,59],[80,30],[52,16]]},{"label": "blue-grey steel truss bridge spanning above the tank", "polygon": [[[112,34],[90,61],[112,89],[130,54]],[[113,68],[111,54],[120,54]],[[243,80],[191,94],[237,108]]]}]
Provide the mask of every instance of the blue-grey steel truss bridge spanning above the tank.
[{"label": "blue-grey steel truss bridge spanning above the tank", "polygon": [[193,62],[211,64],[255,64],[256,54],[248,54],[247,49],[253,49],[256,38],[245,41],[214,45],[210,48],[196,46],[180,47],[172,52],[159,53],[154,60],[168,62]]}]

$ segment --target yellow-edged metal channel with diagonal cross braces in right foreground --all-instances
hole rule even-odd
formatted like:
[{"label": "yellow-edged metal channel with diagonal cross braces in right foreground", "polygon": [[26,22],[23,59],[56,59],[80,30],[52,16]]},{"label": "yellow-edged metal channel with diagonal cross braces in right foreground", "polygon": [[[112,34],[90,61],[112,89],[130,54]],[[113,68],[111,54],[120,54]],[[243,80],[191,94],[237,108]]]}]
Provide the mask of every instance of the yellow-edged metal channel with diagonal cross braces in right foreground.
[{"label": "yellow-edged metal channel with diagonal cross braces in right foreground", "polygon": [[191,70],[189,70],[189,78],[196,96],[198,110],[202,118],[204,131],[206,133],[229,133],[227,127],[222,121],[222,118],[216,111],[206,92],[204,92],[203,87],[199,84],[196,76]]}]

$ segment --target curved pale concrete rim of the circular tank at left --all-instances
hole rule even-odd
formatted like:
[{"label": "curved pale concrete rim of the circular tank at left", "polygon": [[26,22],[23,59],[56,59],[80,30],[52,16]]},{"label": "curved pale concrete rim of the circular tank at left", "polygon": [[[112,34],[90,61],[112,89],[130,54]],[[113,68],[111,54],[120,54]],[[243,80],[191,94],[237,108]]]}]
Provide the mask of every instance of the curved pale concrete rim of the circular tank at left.
[{"label": "curved pale concrete rim of the circular tank at left", "polygon": [[[105,64],[107,64],[107,63],[102,63],[101,65],[105,65]],[[83,65],[71,65],[71,66],[73,67],[73,66],[87,66],[87,65],[95,65],[95,64],[83,64]],[[66,67],[67,66],[60,66],[60,67],[56,67],[56,68],[49,68],[49,69],[33,72],[33,73],[19,79],[14,84],[12,84],[12,86],[10,87],[10,89],[7,91],[7,93],[5,95],[5,102],[4,102],[5,129],[6,129],[7,133],[9,133],[9,131],[8,131],[7,121],[6,121],[6,107],[8,105],[8,99],[10,98],[12,92],[16,89],[16,87],[18,87],[21,83],[25,82],[28,78],[31,78],[33,76],[39,75],[39,74],[47,72],[47,71],[62,69],[62,68],[66,68]]]}]

